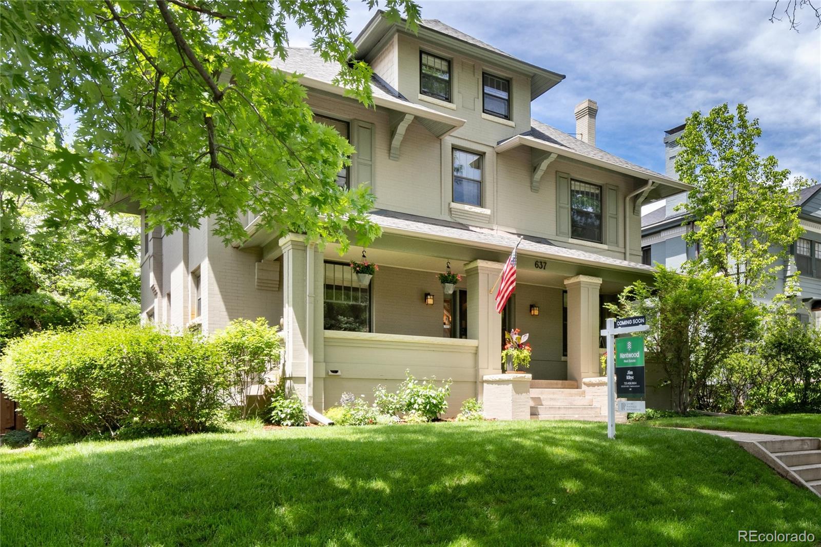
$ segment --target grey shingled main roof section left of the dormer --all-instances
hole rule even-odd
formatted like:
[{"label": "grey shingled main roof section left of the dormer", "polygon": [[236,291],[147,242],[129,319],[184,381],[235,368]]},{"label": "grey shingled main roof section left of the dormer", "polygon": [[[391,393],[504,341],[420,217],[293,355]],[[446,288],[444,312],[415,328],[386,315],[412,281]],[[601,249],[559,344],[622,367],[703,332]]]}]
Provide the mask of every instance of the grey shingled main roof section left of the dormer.
[{"label": "grey shingled main roof section left of the dormer", "polygon": [[[344,88],[333,83],[334,78],[342,68],[338,62],[326,62],[312,48],[286,48],[286,51],[287,57],[284,61],[279,57],[275,57],[269,64],[285,72],[303,75],[300,77],[300,84],[305,85],[305,87],[345,96]],[[433,135],[440,138],[465,125],[465,120],[460,117],[440,113],[438,110],[427,108],[421,104],[411,103],[379,76],[374,75],[371,78],[371,92],[374,97],[374,105],[397,112],[413,114]]]}]

